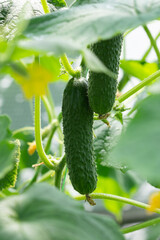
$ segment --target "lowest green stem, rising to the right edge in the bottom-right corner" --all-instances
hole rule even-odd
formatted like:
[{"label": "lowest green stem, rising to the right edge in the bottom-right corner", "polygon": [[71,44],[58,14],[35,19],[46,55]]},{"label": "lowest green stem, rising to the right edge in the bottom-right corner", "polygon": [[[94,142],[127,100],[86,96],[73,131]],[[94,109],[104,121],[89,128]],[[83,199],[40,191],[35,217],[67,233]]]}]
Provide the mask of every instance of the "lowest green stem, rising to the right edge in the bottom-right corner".
[{"label": "lowest green stem, rising to the right edge in the bottom-right corner", "polygon": [[157,224],[157,223],[160,223],[160,218],[155,218],[155,219],[143,222],[143,223],[139,223],[139,224],[127,227],[127,228],[123,228],[123,229],[121,229],[121,232],[123,234],[126,234],[126,233],[130,233],[130,232],[140,230],[142,228],[149,227],[149,226]]}]

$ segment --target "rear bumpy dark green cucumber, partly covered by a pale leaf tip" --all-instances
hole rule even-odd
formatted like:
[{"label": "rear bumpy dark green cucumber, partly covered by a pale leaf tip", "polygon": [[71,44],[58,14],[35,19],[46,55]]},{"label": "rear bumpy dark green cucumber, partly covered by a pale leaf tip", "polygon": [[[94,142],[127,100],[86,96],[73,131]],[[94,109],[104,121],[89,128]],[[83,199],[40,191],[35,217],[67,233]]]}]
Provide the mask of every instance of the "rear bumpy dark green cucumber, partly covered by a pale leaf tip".
[{"label": "rear bumpy dark green cucumber, partly covered by a pale leaf tip", "polygon": [[[123,36],[100,41],[91,46],[95,55],[112,72],[118,74]],[[115,102],[117,81],[103,73],[90,71],[89,73],[88,98],[92,110],[98,114],[111,111]]]}]

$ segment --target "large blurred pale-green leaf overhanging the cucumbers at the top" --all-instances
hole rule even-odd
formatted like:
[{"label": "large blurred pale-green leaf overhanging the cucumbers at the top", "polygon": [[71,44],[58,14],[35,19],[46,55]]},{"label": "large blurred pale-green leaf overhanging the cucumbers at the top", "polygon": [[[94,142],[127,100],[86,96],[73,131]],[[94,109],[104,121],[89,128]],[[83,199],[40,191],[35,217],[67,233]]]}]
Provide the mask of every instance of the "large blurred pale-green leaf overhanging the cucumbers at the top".
[{"label": "large blurred pale-green leaf overhanging the cucumbers at the top", "polygon": [[[91,1],[90,1],[91,2]],[[97,3],[98,2],[98,3]],[[157,0],[96,1],[32,18],[21,46],[55,54],[80,51],[100,39],[138,27],[160,17]]]}]

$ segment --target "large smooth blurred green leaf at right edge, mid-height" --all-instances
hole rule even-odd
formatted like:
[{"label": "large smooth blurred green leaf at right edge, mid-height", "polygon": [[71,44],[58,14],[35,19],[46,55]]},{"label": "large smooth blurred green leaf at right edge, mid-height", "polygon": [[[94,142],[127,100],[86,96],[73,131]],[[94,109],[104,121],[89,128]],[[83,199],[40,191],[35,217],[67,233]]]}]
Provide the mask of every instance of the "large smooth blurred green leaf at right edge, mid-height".
[{"label": "large smooth blurred green leaf at right edge, mid-height", "polygon": [[111,153],[114,167],[127,166],[154,185],[160,183],[160,95],[143,100]]}]

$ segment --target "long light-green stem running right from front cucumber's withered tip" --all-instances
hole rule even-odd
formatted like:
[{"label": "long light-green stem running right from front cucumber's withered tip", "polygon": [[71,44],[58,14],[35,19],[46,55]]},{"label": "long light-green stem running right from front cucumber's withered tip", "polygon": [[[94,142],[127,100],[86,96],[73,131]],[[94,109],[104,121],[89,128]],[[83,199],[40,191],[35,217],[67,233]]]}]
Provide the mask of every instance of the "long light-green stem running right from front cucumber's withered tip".
[{"label": "long light-green stem running right from front cucumber's withered tip", "polygon": [[[133,205],[133,206],[136,206],[136,207],[144,208],[146,210],[150,206],[148,204],[141,203],[141,202],[133,200],[133,199],[120,197],[120,196],[117,196],[117,195],[112,195],[112,194],[107,194],[107,193],[92,193],[92,194],[90,194],[90,197],[93,198],[93,199],[108,199],[108,200],[123,202],[123,203],[130,204],[130,205]],[[75,197],[75,199],[76,200],[85,200],[86,196],[77,196],[77,197]],[[160,209],[155,209],[154,212],[160,214]]]}]

